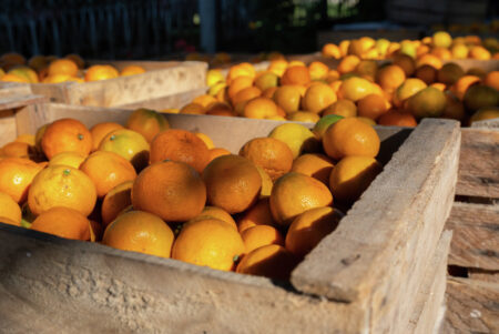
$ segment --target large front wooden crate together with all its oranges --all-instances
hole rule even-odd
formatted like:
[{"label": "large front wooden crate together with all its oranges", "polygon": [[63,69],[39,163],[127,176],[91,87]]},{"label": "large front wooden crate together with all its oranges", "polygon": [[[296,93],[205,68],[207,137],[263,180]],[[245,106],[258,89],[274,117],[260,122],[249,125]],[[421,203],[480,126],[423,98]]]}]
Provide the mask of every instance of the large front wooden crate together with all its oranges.
[{"label": "large front wooden crate together with all its oranges", "polygon": [[3,121],[4,324],[437,326],[429,310],[444,301],[455,121],[314,126],[51,103]]}]

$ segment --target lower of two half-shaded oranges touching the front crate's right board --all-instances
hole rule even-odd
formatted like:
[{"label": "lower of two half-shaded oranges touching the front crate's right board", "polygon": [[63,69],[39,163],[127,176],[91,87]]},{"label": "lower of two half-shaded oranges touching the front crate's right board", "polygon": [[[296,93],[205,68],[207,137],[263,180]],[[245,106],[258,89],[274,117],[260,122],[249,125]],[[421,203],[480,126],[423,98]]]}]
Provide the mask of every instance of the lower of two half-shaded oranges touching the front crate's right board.
[{"label": "lower of two half-shaded oranges touching the front crate's right board", "polygon": [[289,225],[286,234],[286,250],[297,257],[304,257],[330,234],[344,216],[330,206],[315,208],[298,215]]}]

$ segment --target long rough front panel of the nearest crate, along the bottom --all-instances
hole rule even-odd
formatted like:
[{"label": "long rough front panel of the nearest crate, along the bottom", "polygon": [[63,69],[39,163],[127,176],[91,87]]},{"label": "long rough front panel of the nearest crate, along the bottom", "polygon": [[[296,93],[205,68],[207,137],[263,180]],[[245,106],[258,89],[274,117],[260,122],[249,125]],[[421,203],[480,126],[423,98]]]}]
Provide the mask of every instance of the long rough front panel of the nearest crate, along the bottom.
[{"label": "long rough front panel of the nearest crate, along the bottom", "polygon": [[0,250],[0,323],[20,333],[361,333],[356,305],[263,277],[3,224]]}]

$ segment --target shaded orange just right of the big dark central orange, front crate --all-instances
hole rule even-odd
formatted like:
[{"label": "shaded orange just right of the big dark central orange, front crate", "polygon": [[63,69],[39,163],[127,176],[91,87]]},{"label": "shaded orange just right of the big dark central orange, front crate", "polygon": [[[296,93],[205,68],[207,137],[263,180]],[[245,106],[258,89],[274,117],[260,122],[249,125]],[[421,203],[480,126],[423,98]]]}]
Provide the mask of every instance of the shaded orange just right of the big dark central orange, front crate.
[{"label": "shaded orange just right of the big dark central orange, front crate", "polygon": [[228,213],[240,213],[252,206],[262,189],[262,176],[248,159],[222,155],[203,171],[207,202]]}]

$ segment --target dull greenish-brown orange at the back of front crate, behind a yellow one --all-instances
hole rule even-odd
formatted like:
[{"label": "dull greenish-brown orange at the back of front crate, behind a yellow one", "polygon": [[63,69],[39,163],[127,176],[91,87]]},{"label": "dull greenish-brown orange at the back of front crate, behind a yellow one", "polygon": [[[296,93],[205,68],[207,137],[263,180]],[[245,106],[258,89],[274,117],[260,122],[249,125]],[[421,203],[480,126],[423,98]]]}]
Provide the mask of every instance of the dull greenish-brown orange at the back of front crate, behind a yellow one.
[{"label": "dull greenish-brown orange at the back of front crate, behind a yellow one", "polygon": [[140,108],[129,117],[126,128],[139,132],[151,143],[157,133],[170,129],[170,124],[161,113],[151,109]]}]

